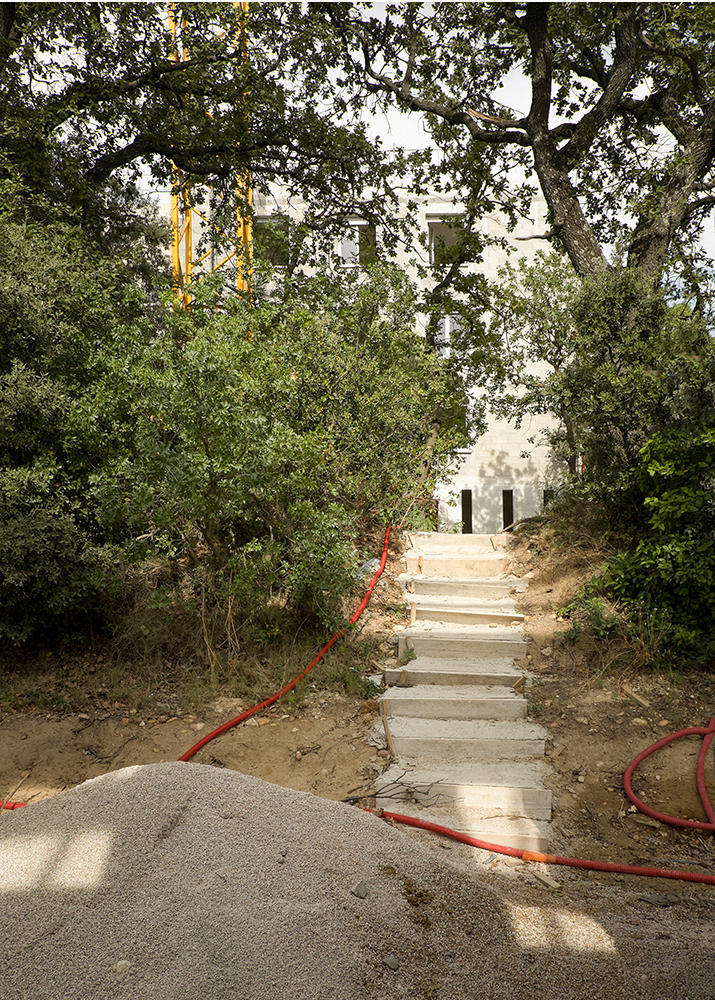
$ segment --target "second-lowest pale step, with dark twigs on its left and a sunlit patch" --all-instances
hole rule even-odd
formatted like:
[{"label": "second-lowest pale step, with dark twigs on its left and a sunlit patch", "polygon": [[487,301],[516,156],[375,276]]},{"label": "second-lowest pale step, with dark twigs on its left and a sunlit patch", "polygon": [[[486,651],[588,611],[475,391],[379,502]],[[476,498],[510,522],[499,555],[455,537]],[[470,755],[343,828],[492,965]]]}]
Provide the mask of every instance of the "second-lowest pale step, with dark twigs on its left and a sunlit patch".
[{"label": "second-lowest pale step, with dark twigs on its left and a sunlit patch", "polygon": [[410,802],[455,812],[481,810],[483,816],[551,818],[551,792],[542,782],[540,761],[445,764],[424,761],[393,764],[375,784],[376,804],[399,812]]}]

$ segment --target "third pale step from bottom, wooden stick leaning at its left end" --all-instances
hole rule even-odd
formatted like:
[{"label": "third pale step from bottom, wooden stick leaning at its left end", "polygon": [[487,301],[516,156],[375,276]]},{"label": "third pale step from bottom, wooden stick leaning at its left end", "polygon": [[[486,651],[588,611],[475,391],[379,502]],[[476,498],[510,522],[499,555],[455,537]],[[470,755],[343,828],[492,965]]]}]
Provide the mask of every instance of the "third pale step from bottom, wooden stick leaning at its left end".
[{"label": "third pale step from bottom, wooden stick leaning at its left end", "polygon": [[543,757],[545,731],[523,719],[507,722],[462,719],[411,719],[402,716],[389,720],[390,734],[397,754],[421,754],[426,757],[488,760]]}]

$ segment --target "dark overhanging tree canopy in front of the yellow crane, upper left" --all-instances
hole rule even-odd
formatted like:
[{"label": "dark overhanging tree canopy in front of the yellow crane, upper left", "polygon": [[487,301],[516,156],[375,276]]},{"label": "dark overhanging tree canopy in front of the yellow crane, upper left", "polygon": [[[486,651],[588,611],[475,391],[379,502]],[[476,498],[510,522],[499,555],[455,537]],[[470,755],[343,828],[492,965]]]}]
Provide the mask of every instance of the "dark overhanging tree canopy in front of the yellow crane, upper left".
[{"label": "dark overhanging tree canopy in front of the yellow crane, upper left", "polygon": [[210,191],[234,240],[247,171],[303,197],[316,227],[389,193],[332,86],[336,43],[299,5],[176,4],[175,33],[163,4],[1,6],[0,182],[21,212],[52,206],[101,234],[109,207],[121,218],[117,189],[143,172]]}]

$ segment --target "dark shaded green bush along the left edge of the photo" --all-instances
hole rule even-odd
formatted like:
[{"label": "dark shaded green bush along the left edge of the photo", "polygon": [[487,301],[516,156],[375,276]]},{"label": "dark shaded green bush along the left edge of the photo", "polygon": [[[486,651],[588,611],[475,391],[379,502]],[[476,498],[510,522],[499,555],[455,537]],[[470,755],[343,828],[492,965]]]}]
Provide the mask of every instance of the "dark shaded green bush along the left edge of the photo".
[{"label": "dark shaded green bush along the left edge of the photo", "polygon": [[96,619],[113,576],[91,499],[96,430],[80,419],[111,268],[68,227],[4,219],[0,275],[0,638],[61,639]]}]

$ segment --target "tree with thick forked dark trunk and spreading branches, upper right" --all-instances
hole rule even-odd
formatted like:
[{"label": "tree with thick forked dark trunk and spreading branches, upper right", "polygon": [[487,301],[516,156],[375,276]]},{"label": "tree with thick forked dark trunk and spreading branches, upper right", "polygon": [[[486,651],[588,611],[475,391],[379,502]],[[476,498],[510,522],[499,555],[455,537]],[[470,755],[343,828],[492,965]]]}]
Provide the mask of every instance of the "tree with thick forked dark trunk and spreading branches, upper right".
[{"label": "tree with thick forked dark trunk and spreading branches, upper right", "polygon": [[[369,5],[368,5],[369,6]],[[549,229],[581,277],[623,260],[656,284],[715,206],[712,6],[311,4],[342,40],[354,86],[424,114],[428,174],[467,214],[522,211],[543,192]],[[530,88],[525,114],[509,87]]]}]

